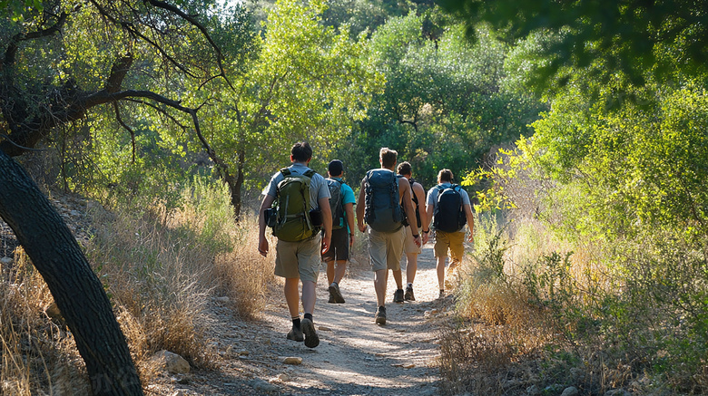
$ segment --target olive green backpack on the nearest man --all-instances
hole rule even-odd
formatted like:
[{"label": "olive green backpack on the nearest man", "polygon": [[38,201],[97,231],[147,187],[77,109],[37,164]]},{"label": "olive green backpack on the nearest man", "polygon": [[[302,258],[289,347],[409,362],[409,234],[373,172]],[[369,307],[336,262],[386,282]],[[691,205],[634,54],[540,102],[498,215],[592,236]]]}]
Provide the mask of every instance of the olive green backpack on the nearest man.
[{"label": "olive green backpack on the nearest man", "polygon": [[275,212],[273,235],[286,242],[299,242],[318,232],[310,219],[310,183],[315,171],[309,169],[302,175],[280,169],[285,179],[278,183],[272,208]]}]

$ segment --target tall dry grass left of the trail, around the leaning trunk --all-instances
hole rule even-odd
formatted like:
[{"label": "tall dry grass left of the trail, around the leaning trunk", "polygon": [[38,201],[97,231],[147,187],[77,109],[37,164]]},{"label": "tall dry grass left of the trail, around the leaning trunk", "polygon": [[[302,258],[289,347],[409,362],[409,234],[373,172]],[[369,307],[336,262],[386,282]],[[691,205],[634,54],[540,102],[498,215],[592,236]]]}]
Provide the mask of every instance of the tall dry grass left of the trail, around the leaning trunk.
[{"label": "tall dry grass left of the trail, around the leaning trunk", "polygon": [[[182,206],[90,207],[93,235],[84,252],[101,279],[144,384],[157,374],[151,357],[178,353],[210,368],[210,304],[230,304],[249,320],[265,305],[272,264],[257,253],[254,216],[236,224],[221,184],[195,180]],[[0,285],[2,394],[88,394],[83,362],[41,276],[21,251]],[[213,297],[228,296],[216,302]]]}]

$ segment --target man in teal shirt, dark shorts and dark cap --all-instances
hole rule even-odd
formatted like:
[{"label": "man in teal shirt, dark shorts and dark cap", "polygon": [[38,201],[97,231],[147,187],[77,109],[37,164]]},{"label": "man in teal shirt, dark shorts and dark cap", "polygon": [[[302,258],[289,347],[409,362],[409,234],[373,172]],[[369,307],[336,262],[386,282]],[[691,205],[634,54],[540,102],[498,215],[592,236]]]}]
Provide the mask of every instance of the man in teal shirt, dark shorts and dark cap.
[{"label": "man in teal shirt, dark shorts and dark cap", "polygon": [[[332,238],[327,253],[322,261],[327,263],[327,282],[329,282],[329,304],[344,304],[344,297],[339,291],[339,283],[347,271],[349,249],[354,245],[354,190],[342,180],[344,164],[339,159],[332,159],[327,167],[327,185],[329,187],[329,208],[332,212]],[[335,266],[336,263],[336,266]]]}]

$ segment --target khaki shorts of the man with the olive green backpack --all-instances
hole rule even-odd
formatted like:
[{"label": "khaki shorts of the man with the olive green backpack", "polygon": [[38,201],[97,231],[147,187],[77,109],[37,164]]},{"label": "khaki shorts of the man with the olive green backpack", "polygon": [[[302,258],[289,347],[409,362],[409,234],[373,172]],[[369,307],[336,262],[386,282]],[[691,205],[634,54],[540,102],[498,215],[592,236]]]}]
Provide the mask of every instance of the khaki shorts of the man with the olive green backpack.
[{"label": "khaki shorts of the man with the olive green backpack", "polygon": [[279,239],[275,246],[275,275],[317,282],[320,276],[321,246],[320,234],[300,242]]}]

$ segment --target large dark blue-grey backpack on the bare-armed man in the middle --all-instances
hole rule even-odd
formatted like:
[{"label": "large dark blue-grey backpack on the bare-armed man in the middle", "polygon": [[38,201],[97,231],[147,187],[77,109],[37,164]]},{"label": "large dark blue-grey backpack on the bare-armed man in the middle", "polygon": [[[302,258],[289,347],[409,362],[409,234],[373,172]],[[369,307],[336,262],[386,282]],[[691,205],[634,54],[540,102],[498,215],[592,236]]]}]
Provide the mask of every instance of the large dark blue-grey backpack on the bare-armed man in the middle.
[{"label": "large dark blue-grey backpack on the bare-armed man in the middle", "polygon": [[379,232],[394,232],[403,227],[403,211],[398,196],[398,178],[388,169],[373,169],[364,178],[364,218]]}]

